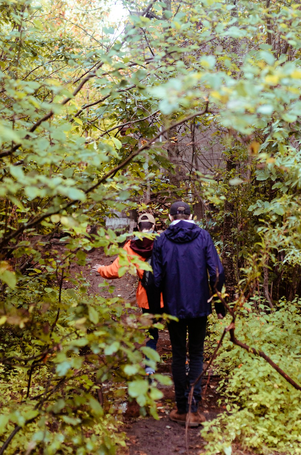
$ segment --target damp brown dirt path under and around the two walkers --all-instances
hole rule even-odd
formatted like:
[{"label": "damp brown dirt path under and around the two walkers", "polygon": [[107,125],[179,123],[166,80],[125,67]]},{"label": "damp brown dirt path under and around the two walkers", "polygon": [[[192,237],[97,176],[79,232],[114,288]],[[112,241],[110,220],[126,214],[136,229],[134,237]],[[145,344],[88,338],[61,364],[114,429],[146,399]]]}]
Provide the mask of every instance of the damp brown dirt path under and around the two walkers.
[{"label": "damp brown dirt path under and around the two walkers", "polygon": [[[60,249],[61,247],[58,246]],[[88,263],[90,267],[99,263],[101,265],[110,265],[115,257],[105,257],[102,248],[97,248],[88,254]],[[99,293],[98,285],[104,280],[99,274],[90,275],[90,267],[78,267],[87,279],[90,280],[91,293]],[[89,276],[90,275],[90,276]],[[115,286],[113,293],[106,293],[104,288],[101,289],[101,295],[104,297],[121,297],[126,301],[135,303],[135,292],[138,284],[137,278],[126,273],[118,280],[106,280]],[[140,308],[131,310],[134,313],[141,314]],[[161,357],[161,364],[158,365],[157,372],[171,376],[171,344],[168,330],[161,330],[157,344],[157,351]],[[209,361],[206,355],[206,345],[204,362]],[[208,379],[209,378],[209,379]],[[226,405],[219,405],[221,398],[216,388],[219,378],[214,374],[214,367],[209,371],[209,375],[203,379],[203,399],[200,404],[200,411],[206,416],[207,420],[213,420],[222,412],[226,412]],[[175,408],[175,391],[173,385],[166,386],[158,384],[157,386],[163,393],[161,401],[157,402],[159,420],[152,417],[142,417],[139,413],[139,405],[135,401],[123,403],[122,420],[123,425],[120,428],[127,436],[127,447],[119,452],[120,455],[171,455],[185,454],[198,455],[205,453],[206,441],[200,435],[200,427],[188,430],[186,450],[185,426],[181,426],[169,419],[169,413]],[[233,450],[234,449],[234,450]],[[240,450],[239,447],[232,447],[232,455],[253,455],[251,452]]]}]

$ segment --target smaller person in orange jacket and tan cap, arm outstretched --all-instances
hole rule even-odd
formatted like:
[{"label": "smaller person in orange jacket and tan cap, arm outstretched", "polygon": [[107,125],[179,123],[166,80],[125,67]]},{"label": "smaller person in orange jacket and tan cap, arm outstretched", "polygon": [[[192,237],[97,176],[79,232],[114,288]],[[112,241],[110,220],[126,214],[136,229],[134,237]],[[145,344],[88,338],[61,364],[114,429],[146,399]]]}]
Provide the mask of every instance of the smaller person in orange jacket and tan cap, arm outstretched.
[{"label": "smaller person in orange jacket and tan cap, arm outstretched", "polygon": [[[143,213],[138,218],[138,230],[141,233],[153,233],[155,230],[156,220],[150,213]],[[128,256],[137,256],[140,261],[146,261],[150,258],[152,249],[153,249],[154,240],[150,238],[138,238],[135,237],[132,240],[129,240],[125,243],[123,249],[128,253]],[[118,275],[118,270],[120,268],[119,257],[111,265],[100,265],[95,264],[92,267],[92,270],[98,272],[100,276],[107,279],[120,278]],[[146,290],[142,286],[141,279],[143,277],[144,270],[137,268],[137,276],[139,278],[139,283],[136,291],[136,300],[138,307],[142,309],[142,313],[149,313],[149,304],[147,300]],[[163,308],[163,298],[161,295],[161,308]],[[146,341],[146,346],[149,348],[155,349],[157,346],[157,341],[159,338],[158,329],[151,328],[149,329],[149,334],[152,338]],[[151,375],[155,373],[155,370],[151,367],[145,368],[145,373]]]}]

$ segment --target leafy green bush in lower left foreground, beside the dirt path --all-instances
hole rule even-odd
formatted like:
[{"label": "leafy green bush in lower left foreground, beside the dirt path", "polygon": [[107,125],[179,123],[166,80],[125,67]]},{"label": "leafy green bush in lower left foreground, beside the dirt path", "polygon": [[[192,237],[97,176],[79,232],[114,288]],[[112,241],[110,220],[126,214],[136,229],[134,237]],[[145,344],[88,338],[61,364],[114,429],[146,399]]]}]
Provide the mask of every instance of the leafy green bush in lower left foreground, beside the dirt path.
[{"label": "leafy green bush in lower left foreground, beside the dirt path", "polygon": [[142,363],[144,354],[152,363],[158,354],[136,348],[145,316],[140,323],[126,315],[130,304],[73,289],[61,291],[57,313],[58,290],[47,295],[48,305],[31,305],[26,322],[0,328],[0,440],[10,442],[10,453],[113,454],[124,445],[116,431],[127,394],[155,418],[162,396]]}]

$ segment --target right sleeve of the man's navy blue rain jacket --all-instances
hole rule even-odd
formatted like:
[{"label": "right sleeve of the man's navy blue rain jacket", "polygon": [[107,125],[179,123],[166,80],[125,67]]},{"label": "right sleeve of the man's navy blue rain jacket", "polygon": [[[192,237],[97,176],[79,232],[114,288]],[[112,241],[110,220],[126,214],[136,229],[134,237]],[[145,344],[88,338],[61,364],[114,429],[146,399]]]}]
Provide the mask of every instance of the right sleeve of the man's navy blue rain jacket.
[{"label": "right sleeve of the man's navy blue rain jacket", "polygon": [[[225,284],[225,272],[209,233],[207,233],[206,239],[206,265],[212,292],[215,293],[215,288],[221,292],[221,289]],[[214,298],[216,313],[221,313],[225,316],[226,309],[224,305],[221,302],[216,302],[216,300],[218,300],[218,298]]]}]

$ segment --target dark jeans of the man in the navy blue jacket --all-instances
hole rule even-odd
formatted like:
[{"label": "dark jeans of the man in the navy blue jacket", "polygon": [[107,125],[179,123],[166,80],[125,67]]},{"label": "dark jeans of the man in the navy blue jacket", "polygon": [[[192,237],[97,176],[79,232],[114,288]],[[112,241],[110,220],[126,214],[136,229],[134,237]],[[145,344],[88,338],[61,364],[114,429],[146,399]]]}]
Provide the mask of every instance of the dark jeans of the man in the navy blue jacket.
[{"label": "dark jeans of the man in the navy blue jacket", "polygon": [[[191,384],[203,370],[204,340],[206,336],[207,316],[201,318],[179,319],[167,324],[172,348],[172,376],[175,384],[176,405],[180,413],[188,411],[188,395]],[[189,340],[189,373],[186,376],[186,334]],[[196,412],[201,400],[201,379],[193,392],[191,412]]]}]

